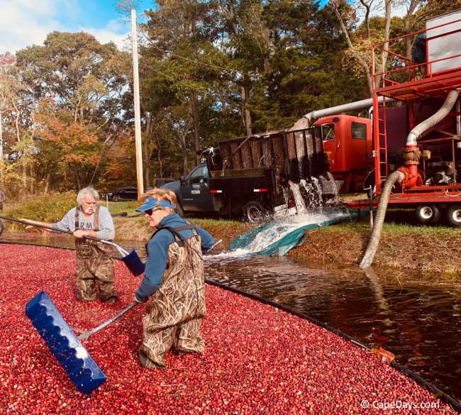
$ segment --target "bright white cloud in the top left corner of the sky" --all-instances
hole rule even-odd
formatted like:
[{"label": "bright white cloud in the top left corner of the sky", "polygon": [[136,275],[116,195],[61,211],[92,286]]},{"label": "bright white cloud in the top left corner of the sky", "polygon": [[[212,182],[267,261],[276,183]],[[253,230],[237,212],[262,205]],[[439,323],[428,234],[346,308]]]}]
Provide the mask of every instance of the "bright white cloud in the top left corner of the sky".
[{"label": "bright white cloud in the top left corner of the sky", "polygon": [[118,48],[123,47],[128,35],[118,34],[123,23],[110,21],[105,28],[71,28],[62,23],[67,21],[63,15],[81,12],[77,0],[0,0],[0,53],[43,45],[52,31],[85,31],[101,43],[113,41]]}]

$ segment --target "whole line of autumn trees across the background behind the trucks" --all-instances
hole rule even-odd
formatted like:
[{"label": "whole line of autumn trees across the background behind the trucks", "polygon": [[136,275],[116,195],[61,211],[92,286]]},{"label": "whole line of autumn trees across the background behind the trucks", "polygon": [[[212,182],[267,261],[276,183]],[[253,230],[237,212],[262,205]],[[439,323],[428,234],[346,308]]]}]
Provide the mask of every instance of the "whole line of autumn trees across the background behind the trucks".
[{"label": "whole line of autumn trees across the background behind the trucks", "polygon": [[[138,27],[145,185],[186,174],[197,150],[224,138],[289,128],[314,109],[370,97],[372,43],[460,7],[157,0]],[[382,51],[377,64],[393,62]],[[0,55],[0,187],[14,197],[135,184],[132,80],[130,52],[88,33],[52,32],[43,45]]]}]

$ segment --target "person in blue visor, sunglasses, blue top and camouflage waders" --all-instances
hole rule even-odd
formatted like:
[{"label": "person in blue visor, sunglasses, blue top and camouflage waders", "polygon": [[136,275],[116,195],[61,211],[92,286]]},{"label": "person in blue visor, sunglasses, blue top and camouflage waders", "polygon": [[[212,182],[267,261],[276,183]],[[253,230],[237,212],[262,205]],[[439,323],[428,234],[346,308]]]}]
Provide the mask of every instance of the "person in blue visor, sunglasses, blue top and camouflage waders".
[{"label": "person in blue visor, sunglasses, blue top and camouflage waders", "polygon": [[150,190],[143,196],[142,211],[153,233],[146,250],[145,276],[135,293],[139,303],[150,299],[143,317],[140,364],[165,367],[165,353],[204,351],[200,336],[205,316],[204,260],[213,237],[174,213],[177,199],[168,189]]}]

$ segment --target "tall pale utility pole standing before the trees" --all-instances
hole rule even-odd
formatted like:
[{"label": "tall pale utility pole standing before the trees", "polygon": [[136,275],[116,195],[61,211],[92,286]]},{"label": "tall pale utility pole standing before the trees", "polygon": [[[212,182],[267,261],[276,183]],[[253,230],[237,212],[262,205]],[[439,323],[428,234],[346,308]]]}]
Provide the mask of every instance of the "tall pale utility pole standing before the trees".
[{"label": "tall pale utility pole standing before the trees", "polygon": [[131,9],[131,44],[133,50],[133,94],[135,104],[135,148],[136,177],[138,178],[138,199],[144,193],[143,150],[141,146],[141,120],[139,106],[138,38],[136,35],[136,11]]}]

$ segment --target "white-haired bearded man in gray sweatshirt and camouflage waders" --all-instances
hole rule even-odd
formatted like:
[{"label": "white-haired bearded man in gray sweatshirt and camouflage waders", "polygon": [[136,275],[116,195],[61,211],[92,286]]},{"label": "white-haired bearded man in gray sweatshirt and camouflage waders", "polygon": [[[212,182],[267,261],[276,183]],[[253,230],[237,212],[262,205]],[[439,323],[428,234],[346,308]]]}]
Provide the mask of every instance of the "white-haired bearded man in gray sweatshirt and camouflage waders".
[{"label": "white-haired bearded man in gray sweatshirt and camouflage waders", "polygon": [[77,299],[94,301],[97,281],[101,301],[113,303],[118,297],[113,287],[111,246],[84,238],[111,240],[115,236],[111,214],[106,207],[96,204],[98,200],[98,192],[93,187],[85,187],[77,194],[79,206],[70,209],[60,222],[28,222],[73,232],[77,253]]}]

